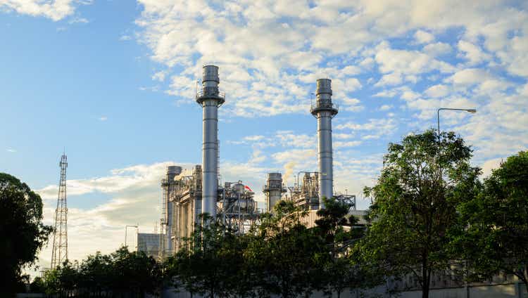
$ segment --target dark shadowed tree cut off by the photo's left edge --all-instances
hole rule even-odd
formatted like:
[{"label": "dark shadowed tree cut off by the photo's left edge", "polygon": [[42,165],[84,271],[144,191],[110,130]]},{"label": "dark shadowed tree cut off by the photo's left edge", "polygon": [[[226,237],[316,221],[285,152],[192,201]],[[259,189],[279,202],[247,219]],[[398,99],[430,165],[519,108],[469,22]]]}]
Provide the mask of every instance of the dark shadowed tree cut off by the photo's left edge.
[{"label": "dark shadowed tree cut off by the photo's left edge", "polygon": [[12,296],[22,268],[34,264],[53,228],[42,224],[40,196],[5,173],[0,173],[0,218],[2,291]]}]

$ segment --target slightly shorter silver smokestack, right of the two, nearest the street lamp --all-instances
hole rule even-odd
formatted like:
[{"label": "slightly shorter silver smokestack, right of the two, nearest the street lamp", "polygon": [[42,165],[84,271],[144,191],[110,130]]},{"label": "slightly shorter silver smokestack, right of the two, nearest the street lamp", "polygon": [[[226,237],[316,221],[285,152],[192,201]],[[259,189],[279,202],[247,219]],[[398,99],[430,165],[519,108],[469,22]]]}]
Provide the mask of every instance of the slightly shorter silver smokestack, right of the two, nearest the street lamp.
[{"label": "slightly shorter silver smokestack, right of the two, nearest the street lamp", "polygon": [[332,169],[332,118],[337,106],[332,104],[332,80],[318,79],[316,101],[310,112],[318,119],[319,208],[325,206],[322,197],[332,197],[334,173]]}]

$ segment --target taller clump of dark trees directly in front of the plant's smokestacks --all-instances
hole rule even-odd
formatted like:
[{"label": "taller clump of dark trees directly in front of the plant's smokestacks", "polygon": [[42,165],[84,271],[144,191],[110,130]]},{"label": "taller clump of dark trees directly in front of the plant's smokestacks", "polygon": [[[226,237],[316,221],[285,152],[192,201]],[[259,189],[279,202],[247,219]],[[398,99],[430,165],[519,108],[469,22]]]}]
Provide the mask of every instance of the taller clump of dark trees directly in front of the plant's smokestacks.
[{"label": "taller clump of dark trees directly in front of the plant's smokestacks", "polygon": [[165,263],[172,284],[205,297],[309,297],[316,290],[338,293],[365,281],[351,266],[348,245],[363,237],[348,216],[351,205],[324,200],[315,228],[301,223],[293,202],[280,201],[272,214],[245,235],[236,235],[207,215]]}]

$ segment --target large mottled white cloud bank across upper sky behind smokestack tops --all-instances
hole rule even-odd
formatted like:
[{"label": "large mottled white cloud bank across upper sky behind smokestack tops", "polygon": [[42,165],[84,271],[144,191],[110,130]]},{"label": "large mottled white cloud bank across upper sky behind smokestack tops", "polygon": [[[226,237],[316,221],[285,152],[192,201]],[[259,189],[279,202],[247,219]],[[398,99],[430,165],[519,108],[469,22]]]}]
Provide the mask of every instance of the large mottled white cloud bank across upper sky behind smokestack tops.
[{"label": "large mottled white cloud bank across upper sky behind smokestack tops", "polygon": [[[377,86],[420,82],[422,75],[432,77],[429,72],[451,74],[455,66],[439,59],[451,52],[451,45],[432,43],[433,32],[451,28],[462,28],[463,38],[472,44],[482,37],[483,51],[494,54],[489,49],[494,47],[510,72],[527,73],[520,66],[528,58],[523,34],[507,37],[508,32],[524,30],[526,13],[494,1],[478,7],[467,1],[413,0],[398,5],[391,1],[308,5],[301,1],[295,4],[295,13],[284,9],[293,4],[260,0],[225,1],[215,6],[139,3],[142,14],[136,22],[142,30],[138,40],[150,49],[154,61],[169,70],[168,76],[180,77],[182,83],[170,85],[167,93],[190,99],[191,92],[181,92],[183,84],[194,89],[192,82],[200,77],[201,65],[214,61],[220,66],[220,88],[228,94],[223,110],[230,115],[306,112],[309,107],[303,100],[313,91],[315,79],[329,77],[336,83],[336,98],[345,98],[346,93],[362,87],[353,76],[375,70],[375,63],[381,72]],[[409,32],[427,44],[422,51],[391,48],[384,41]]]}]

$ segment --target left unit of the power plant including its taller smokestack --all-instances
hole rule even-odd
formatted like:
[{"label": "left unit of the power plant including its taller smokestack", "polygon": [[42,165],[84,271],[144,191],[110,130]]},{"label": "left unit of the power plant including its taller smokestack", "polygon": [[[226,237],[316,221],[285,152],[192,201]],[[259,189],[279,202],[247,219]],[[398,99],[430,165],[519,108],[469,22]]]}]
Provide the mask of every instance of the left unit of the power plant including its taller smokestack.
[{"label": "left unit of the power plant including its taller smokestack", "polygon": [[199,215],[208,213],[238,233],[244,233],[258,219],[253,191],[242,181],[225,182],[220,186],[218,153],[218,108],[225,94],[218,89],[218,67],[203,67],[202,88],[196,102],[202,107],[202,164],[192,174],[182,174],[182,167],[170,166],[163,190],[159,257],[168,257],[179,250],[191,237]]}]

